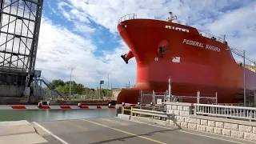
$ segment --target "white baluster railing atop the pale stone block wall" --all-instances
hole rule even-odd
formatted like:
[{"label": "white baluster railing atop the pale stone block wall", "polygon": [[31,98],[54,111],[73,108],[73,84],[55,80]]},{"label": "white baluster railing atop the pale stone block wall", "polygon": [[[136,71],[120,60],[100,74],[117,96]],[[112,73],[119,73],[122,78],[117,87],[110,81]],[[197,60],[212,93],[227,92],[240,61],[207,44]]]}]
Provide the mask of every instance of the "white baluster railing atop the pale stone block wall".
[{"label": "white baluster railing atop the pale stone block wall", "polygon": [[219,106],[194,103],[194,114],[224,118],[256,120],[256,108],[243,106]]}]

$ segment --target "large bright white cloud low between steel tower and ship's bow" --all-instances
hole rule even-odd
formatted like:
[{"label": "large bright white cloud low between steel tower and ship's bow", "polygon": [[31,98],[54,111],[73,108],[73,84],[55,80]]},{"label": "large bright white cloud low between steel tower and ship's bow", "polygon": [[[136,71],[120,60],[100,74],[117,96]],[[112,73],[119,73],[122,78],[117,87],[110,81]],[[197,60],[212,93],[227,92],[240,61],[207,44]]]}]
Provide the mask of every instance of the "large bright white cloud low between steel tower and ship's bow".
[{"label": "large bright white cloud low between steel tower and ship's bow", "polygon": [[[56,26],[47,18],[42,18],[36,67],[42,70],[42,74],[46,74],[46,78],[53,80],[65,74],[64,80],[67,81],[70,78],[69,67],[74,68],[74,80],[86,86],[98,86],[99,80],[107,80],[107,74],[111,70],[110,80],[115,83],[117,81],[113,79],[124,82],[130,73],[133,75],[134,69],[123,67],[125,64],[120,58],[126,51],[123,46],[114,51],[110,58],[109,54],[106,54],[106,58],[97,58],[94,55],[96,50],[98,49],[90,39],[74,34],[63,26]],[[123,74],[125,72],[130,73]]]}]

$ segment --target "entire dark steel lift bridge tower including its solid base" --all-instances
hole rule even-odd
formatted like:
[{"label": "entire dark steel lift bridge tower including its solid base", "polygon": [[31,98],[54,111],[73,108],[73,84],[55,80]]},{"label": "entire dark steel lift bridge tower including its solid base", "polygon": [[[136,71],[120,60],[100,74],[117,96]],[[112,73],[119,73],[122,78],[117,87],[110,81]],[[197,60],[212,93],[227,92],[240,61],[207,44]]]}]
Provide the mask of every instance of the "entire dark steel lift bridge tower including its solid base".
[{"label": "entire dark steel lift bridge tower including its solid base", "polygon": [[0,98],[30,94],[43,0],[0,0]]}]

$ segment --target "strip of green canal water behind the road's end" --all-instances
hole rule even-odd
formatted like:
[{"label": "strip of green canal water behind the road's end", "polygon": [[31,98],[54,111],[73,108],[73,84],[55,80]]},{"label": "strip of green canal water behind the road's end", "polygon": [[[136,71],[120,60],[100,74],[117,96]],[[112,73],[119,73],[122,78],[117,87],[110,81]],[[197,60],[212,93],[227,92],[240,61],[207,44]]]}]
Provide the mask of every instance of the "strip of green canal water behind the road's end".
[{"label": "strip of green canal water behind the road's end", "polygon": [[102,110],[0,110],[0,122],[27,120],[46,122],[79,118],[111,118],[116,116],[115,109]]}]

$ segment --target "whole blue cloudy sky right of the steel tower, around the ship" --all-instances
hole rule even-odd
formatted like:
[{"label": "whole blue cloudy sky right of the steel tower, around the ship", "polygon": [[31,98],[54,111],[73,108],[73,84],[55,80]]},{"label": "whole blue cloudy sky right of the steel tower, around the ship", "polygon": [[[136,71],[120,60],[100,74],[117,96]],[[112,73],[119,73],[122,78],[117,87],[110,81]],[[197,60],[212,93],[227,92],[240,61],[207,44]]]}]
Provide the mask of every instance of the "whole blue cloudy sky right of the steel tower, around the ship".
[{"label": "whole blue cloudy sky right of the steel tower, around the ship", "polygon": [[[72,80],[88,87],[135,85],[136,62],[123,62],[128,47],[118,35],[118,19],[126,14],[166,20],[168,12],[183,25],[218,37],[246,50],[256,60],[254,0],[44,0],[36,70],[49,81]],[[238,60],[242,61],[241,58]]]}]

